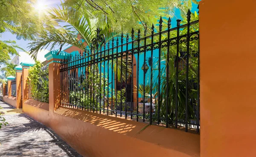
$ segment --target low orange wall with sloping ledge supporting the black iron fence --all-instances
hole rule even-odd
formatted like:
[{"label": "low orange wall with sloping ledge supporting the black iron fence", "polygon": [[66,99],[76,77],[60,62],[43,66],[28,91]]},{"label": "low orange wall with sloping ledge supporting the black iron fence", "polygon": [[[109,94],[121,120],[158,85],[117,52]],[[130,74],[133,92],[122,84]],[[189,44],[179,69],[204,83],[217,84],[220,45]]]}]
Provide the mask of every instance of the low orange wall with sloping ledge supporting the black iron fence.
[{"label": "low orange wall with sloping ledge supporting the black iron fence", "polygon": [[[34,104],[35,105],[35,104]],[[83,156],[199,157],[200,136],[122,118],[59,107],[23,104],[23,112],[54,130]]]}]

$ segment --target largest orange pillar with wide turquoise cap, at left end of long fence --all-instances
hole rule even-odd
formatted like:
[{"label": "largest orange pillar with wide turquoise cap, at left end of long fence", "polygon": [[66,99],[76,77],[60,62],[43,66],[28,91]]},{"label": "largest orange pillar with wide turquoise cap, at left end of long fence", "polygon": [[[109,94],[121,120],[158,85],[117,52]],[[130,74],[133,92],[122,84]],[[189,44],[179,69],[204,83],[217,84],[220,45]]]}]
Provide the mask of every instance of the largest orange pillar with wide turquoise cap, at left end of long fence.
[{"label": "largest orange pillar with wide turquoise cap, at left end of long fence", "polygon": [[58,55],[58,50],[53,50],[47,53],[44,57],[48,60],[49,65],[49,111],[54,112],[60,106],[60,62],[61,59],[70,56],[69,53],[61,51]]}]

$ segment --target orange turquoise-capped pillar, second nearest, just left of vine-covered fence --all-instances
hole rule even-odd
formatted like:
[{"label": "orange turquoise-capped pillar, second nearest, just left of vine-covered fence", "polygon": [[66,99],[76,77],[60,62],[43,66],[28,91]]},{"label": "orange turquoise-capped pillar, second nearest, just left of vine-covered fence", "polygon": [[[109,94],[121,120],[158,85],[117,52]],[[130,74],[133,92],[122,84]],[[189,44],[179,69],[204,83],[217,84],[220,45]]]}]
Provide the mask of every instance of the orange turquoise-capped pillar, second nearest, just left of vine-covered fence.
[{"label": "orange turquoise-capped pillar, second nearest, just left of vine-covered fence", "polygon": [[34,64],[21,62],[20,65],[22,66],[22,104],[24,104],[29,98],[29,87],[27,84],[29,67],[32,67]]}]

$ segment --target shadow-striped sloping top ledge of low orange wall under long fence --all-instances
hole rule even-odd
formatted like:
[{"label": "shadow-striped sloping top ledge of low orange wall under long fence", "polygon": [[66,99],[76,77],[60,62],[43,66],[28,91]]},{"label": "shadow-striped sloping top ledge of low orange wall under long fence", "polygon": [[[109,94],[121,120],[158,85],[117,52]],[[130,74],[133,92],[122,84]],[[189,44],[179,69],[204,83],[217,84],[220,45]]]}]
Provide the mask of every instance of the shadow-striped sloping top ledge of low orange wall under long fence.
[{"label": "shadow-striped sloping top ledge of low orange wall under long fence", "polygon": [[[116,118],[110,115],[99,115],[99,113],[62,106],[59,107],[55,113],[186,154],[196,154],[200,151],[200,136],[198,134],[165,128],[164,126],[149,126],[148,123],[140,123],[130,119],[126,120],[125,118]],[[187,145],[187,147],[184,147],[184,145]]]}]

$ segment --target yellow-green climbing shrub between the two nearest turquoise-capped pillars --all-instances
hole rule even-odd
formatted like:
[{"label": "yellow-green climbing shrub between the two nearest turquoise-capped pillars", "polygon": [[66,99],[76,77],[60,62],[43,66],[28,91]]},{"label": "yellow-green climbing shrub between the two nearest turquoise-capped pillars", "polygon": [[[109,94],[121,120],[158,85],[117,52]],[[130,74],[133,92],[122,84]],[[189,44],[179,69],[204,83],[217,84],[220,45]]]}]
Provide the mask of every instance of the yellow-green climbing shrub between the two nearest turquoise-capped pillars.
[{"label": "yellow-green climbing shrub between the two nearest turquoise-capped pillars", "polygon": [[[48,75],[42,77],[40,74],[43,72],[42,64],[39,61],[35,62],[35,65],[29,68],[29,76],[27,79],[27,85],[29,88],[29,96],[33,100],[46,102],[49,100],[49,92],[40,93],[42,91],[49,91],[47,84]],[[46,69],[48,71],[48,67]]]}]

